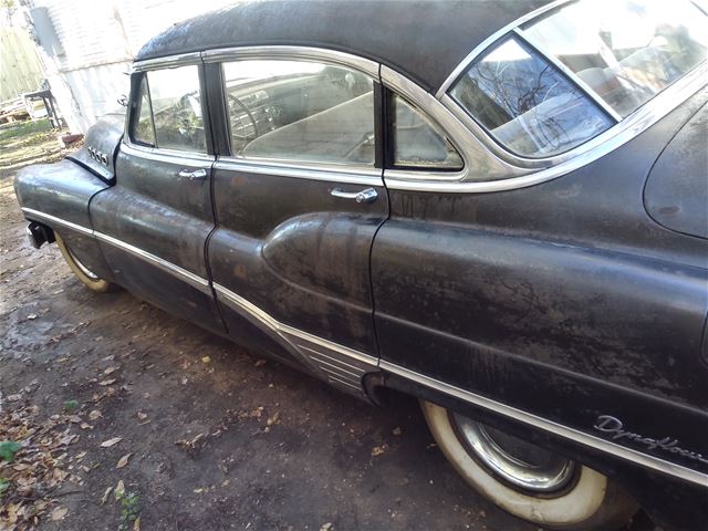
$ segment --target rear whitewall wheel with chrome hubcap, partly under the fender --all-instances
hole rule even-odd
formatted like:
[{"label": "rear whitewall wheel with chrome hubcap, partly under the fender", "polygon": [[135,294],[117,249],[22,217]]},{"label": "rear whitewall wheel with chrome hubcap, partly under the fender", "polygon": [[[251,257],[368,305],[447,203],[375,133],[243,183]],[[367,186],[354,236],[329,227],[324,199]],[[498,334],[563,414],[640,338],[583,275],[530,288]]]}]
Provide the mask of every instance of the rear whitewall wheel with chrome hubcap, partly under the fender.
[{"label": "rear whitewall wheel with chrome hubcap, partly under the fender", "polygon": [[504,511],[544,528],[615,529],[638,507],[595,470],[420,400],[438,446],[462,478]]}]

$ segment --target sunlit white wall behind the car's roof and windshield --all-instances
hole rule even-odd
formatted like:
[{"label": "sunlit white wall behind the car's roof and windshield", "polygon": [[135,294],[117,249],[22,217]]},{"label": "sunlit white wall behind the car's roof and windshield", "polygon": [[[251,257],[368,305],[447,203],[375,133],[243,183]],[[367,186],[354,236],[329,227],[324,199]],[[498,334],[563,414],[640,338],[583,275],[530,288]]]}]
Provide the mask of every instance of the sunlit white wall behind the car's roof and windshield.
[{"label": "sunlit white wall behind the car's roof and windshield", "polygon": [[[73,133],[119,108],[131,63],[145,42],[176,22],[233,0],[29,0],[46,8],[63,53],[40,49],[61,113]],[[38,25],[39,28],[39,25]],[[42,34],[39,35],[42,40]]]}]

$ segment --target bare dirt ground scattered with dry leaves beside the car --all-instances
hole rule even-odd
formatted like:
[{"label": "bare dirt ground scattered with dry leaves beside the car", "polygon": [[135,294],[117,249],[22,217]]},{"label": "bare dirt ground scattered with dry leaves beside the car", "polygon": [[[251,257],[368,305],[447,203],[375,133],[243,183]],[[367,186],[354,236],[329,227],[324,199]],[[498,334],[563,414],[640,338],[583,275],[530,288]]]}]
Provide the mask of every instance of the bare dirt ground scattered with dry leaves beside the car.
[{"label": "bare dirt ground scattered with dry leaves beside the car", "polygon": [[84,289],[56,246],[25,241],[12,178],[62,153],[23,138],[0,136],[0,429],[34,434],[4,472],[49,468],[6,483],[0,514],[43,499],[43,530],[538,530],[457,477],[414,402],[374,408]]}]

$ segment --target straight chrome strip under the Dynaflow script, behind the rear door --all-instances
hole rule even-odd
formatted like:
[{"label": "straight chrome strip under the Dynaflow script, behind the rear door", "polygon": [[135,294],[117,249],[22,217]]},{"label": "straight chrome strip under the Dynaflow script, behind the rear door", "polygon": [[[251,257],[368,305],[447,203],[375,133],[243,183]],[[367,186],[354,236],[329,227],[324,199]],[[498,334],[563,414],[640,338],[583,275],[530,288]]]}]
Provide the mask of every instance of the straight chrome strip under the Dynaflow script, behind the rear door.
[{"label": "straight chrome strip under the Dynaflow script, behind the rear door", "polygon": [[379,367],[384,371],[388,371],[389,373],[397,374],[398,376],[403,376],[404,378],[410,379],[420,385],[425,385],[426,387],[437,389],[441,393],[445,393],[446,395],[454,396],[464,402],[468,402],[476,406],[483,407],[485,409],[488,409],[490,412],[494,412],[504,417],[509,417],[514,420],[527,424],[529,426],[533,426],[534,428],[549,431],[551,434],[564,437],[575,442],[580,442],[584,446],[602,450],[606,454],[613,455],[621,459],[625,459],[625,460],[635,462],[637,465],[642,465],[643,467],[650,468],[652,470],[656,470],[663,473],[668,473],[670,476],[681,478],[691,483],[700,485],[701,487],[706,487],[706,485],[708,485],[707,473],[702,473],[697,470],[691,470],[690,468],[684,467],[681,465],[676,465],[676,464],[666,461],[664,459],[660,459],[658,457],[649,456],[638,450],[634,450],[632,448],[617,445],[616,442],[602,439],[594,435],[586,434],[579,429],[563,426],[561,424],[554,423],[552,420],[548,420],[545,418],[539,417],[531,413],[527,413],[516,407],[508,406],[497,400],[492,400],[491,398],[487,398],[485,396],[477,395],[475,393],[461,389],[454,385],[446,384],[438,379],[430,378],[429,376],[425,376],[423,374],[416,373],[415,371],[410,371],[408,368],[393,364],[385,360],[382,360],[379,362]]}]

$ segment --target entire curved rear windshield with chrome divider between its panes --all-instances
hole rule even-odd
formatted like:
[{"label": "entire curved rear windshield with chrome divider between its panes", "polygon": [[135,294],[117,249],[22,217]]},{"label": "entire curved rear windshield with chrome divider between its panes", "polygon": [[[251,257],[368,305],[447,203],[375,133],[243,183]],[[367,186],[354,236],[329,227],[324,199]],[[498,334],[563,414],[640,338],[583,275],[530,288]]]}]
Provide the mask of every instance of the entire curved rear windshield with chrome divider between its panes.
[{"label": "entire curved rear windshield with chrome divider between its panes", "polygon": [[706,13],[679,0],[580,0],[516,30],[451,86],[509,150],[562,154],[706,60]]}]

